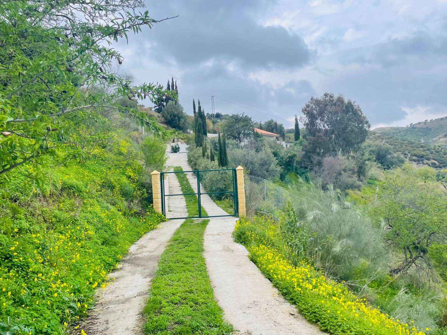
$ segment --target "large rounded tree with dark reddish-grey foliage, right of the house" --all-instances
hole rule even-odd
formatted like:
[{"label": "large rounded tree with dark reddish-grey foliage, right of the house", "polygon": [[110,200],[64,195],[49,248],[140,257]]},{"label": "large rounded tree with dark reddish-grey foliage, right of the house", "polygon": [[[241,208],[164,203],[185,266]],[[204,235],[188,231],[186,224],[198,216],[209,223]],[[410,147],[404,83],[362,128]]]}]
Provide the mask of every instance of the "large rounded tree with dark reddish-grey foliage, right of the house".
[{"label": "large rounded tree with dark reddish-grey foliage, right of the house", "polygon": [[306,127],[306,155],[324,157],[356,151],[365,141],[370,124],[359,105],[342,95],[312,97],[302,109]]}]

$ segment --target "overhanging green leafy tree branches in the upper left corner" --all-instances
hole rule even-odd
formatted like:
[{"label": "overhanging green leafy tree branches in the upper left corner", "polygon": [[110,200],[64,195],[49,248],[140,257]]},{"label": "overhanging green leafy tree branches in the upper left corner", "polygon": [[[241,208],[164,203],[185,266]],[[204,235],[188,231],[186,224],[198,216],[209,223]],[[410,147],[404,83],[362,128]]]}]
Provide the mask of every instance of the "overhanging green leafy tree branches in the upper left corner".
[{"label": "overhanging green leafy tree branches in the upper left corner", "polygon": [[42,184],[48,166],[80,155],[78,126],[101,121],[110,110],[162,131],[132,104],[120,104],[122,97],[154,99],[155,85],[132,87],[112,69],[112,60],[123,59],[109,43],[157,22],[148,11],[133,14],[141,5],[135,0],[2,3],[0,177],[10,178],[9,171],[28,164]]}]

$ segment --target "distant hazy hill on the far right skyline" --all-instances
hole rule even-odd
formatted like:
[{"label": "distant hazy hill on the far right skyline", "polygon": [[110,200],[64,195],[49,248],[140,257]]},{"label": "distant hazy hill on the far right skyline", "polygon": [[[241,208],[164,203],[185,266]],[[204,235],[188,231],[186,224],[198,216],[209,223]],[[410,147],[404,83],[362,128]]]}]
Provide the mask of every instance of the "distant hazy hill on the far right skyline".
[{"label": "distant hazy hill on the far right skyline", "polygon": [[421,121],[407,127],[382,127],[373,131],[401,140],[447,146],[447,117]]}]

